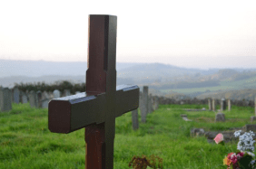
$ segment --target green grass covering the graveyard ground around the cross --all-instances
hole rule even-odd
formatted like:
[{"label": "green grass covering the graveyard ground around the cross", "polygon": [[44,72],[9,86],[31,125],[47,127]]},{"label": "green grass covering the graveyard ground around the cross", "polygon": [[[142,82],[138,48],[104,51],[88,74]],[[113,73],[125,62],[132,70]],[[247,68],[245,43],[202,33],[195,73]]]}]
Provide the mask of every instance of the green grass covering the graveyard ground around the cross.
[{"label": "green grass covering the graveyard ground around the cross", "polygon": [[[146,123],[132,129],[132,113],[115,120],[114,168],[129,168],[133,155],[157,155],[162,168],[226,168],[225,155],[236,151],[237,141],[226,146],[208,143],[204,136],[191,137],[192,127],[205,131],[223,131],[251,124],[254,109],[235,107],[223,111],[226,121],[214,123],[216,112],[182,108],[208,108],[207,105],[160,105],[148,114]],[[218,106],[217,106],[217,109]],[[192,121],[182,120],[187,114]],[[30,108],[29,103],[15,104],[10,112],[0,113],[0,168],[10,169],[84,169],[84,129],[68,135],[51,133],[47,108]],[[132,167],[130,167],[132,168]],[[148,167],[150,168],[150,167]]]}]

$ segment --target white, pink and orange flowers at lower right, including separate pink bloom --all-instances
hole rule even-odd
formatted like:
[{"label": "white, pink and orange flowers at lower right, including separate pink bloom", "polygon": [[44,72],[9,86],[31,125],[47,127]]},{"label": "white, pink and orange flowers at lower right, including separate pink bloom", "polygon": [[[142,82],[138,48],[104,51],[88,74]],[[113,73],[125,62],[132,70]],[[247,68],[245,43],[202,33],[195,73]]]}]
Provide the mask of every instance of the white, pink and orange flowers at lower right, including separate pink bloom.
[{"label": "white, pink and orange flowers at lower right, including separate pink bloom", "polygon": [[[228,166],[227,169],[256,169],[254,152],[254,140],[252,136],[255,136],[252,131],[245,132],[241,135],[241,130],[234,132],[234,136],[239,136],[239,142],[237,144],[238,151],[236,153],[231,152],[223,159],[223,164]],[[224,145],[224,137],[220,133],[214,138],[216,144]]]}]

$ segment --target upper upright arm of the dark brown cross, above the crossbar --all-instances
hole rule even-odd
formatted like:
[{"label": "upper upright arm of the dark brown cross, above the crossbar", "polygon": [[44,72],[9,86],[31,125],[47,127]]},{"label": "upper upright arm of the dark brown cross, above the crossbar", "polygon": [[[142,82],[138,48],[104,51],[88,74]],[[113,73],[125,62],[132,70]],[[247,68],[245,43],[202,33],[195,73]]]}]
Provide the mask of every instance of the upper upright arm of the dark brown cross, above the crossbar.
[{"label": "upper upright arm of the dark brown cross, above the crossbar", "polygon": [[[90,14],[86,71],[86,93],[96,95],[115,90],[117,16]],[[114,83],[113,83],[114,81]]]}]

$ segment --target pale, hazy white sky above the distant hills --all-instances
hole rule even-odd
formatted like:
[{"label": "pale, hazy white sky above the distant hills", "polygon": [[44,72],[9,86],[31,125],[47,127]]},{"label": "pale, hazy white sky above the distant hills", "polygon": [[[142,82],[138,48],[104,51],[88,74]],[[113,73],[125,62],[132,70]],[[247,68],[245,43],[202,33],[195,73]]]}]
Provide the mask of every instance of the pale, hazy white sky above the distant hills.
[{"label": "pale, hazy white sky above the distant hills", "polygon": [[0,60],[87,61],[89,14],[117,15],[117,62],[256,68],[255,0],[0,2]]}]

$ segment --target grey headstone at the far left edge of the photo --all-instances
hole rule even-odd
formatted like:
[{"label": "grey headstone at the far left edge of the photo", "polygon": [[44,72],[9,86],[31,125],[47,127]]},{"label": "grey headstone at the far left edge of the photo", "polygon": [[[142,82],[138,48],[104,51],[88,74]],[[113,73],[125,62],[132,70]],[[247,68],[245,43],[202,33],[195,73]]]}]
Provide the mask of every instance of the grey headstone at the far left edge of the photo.
[{"label": "grey headstone at the far left edge of the photo", "polygon": [[12,110],[12,91],[8,88],[0,89],[0,110]]}]

